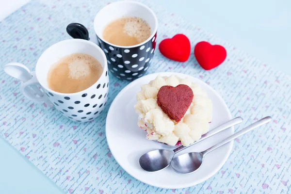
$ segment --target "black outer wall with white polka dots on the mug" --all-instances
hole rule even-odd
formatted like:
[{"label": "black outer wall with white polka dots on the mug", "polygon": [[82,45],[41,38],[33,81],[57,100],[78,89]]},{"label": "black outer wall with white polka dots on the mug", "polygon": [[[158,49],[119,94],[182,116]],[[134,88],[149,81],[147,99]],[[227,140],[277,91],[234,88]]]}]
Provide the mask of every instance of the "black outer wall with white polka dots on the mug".
[{"label": "black outer wall with white polka dots on the mug", "polygon": [[[99,37],[97,38],[100,39]],[[132,81],[146,74],[145,71],[154,56],[156,41],[157,33],[138,47],[120,48],[102,40],[100,47],[106,55],[110,73],[118,79]]]}]

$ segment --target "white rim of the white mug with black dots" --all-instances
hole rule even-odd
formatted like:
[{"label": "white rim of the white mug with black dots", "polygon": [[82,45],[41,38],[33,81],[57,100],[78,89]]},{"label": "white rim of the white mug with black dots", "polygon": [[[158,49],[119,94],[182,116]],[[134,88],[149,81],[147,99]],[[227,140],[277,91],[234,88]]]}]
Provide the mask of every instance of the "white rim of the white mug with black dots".
[{"label": "white rim of the white mug with black dots", "polygon": [[[103,58],[103,62],[100,62],[100,63],[104,63],[104,67],[103,67],[103,72],[102,72],[102,74],[101,74],[101,76],[100,76],[100,78],[93,84],[93,85],[95,85],[98,81],[100,81],[100,79],[101,79],[101,77],[102,76],[104,76],[104,74],[106,73],[106,71],[108,71],[108,68],[107,68],[107,59],[106,59],[106,56],[105,56],[105,53],[102,51],[102,49],[100,48],[100,47],[98,47],[95,43],[93,43],[93,42],[90,42],[90,41],[88,41],[88,40],[83,40],[83,39],[67,39],[67,40],[62,40],[62,41],[59,41],[59,42],[57,42],[57,43],[55,43],[55,44],[53,44],[53,45],[51,45],[48,49],[46,49],[41,55],[40,55],[40,57],[38,58],[38,60],[37,60],[37,62],[36,62],[36,65],[35,65],[35,76],[36,76],[36,79],[37,79],[37,81],[39,82],[39,84],[43,87],[43,88],[45,88],[47,91],[49,91],[50,93],[53,93],[53,94],[56,94],[56,95],[60,95],[60,96],[68,96],[68,95],[70,95],[70,96],[75,96],[75,95],[80,95],[80,94],[83,94],[83,93],[86,93],[86,91],[87,90],[89,90],[92,86],[90,86],[89,88],[86,88],[85,90],[82,90],[82,91],[80,91],[80,92],[76,92],[76,93],[60,93],[60,92],[56,92],[56,91],[54,91],[54,90],[51,90],[49,87],[47,87],[47,86],[45,86],[41,81],[40,81],[40,79],[39,79],[39,76],[41,76],[41,75],[38,75],[38,69],[39,68],[41,68],[41,66],[40,66],[40,59],[42,58],[42,57],[44,57],[44,55],[46,55],[48,52],[49,52],[49,50],[50,49],[53,49],[54,47],[56,47],[57,45],[60,45],[60,44],[67,44],[68,42],[76,42],[76,43],[78,43],[78,42],[82,42],[82,43],[85,43],[85,44],[90,44],[90,45],[92,45],[92,46],[94,46],[96,49],[97,49],[97,51],[98,52],[100,52],[101,53],[101,55],[102,55],[102,58]],[[74,53],[72,53],[72,54],[74,54]],[[48,72],[47,72],[48,73]],[[108,74],[108,72],[107,72],[107,74]],[[107,75],[108,76],[108,75]]]}]

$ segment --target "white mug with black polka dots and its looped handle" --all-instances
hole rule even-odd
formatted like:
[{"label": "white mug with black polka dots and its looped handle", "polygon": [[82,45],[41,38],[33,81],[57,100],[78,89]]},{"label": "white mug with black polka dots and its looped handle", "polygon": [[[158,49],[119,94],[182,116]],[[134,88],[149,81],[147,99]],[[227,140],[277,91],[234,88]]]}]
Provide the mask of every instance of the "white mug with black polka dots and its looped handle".
[{"label": "white mug with black polka dots and its looped handle", "polygon": [[[49,89],[47,77],[50,66],[60,58],[74,53],[88,54],[97,59],[103,67],[99,80],[91,87],[73,94]],[[34,94],[32,85],[40,85],[43,94]],[[96,44],[87,40],[69,39],[58,42],[43,52],[36,63],[35,72],[32,72],[32,79],[22,83],[21,91],[32,100],[49,100],[60,113],[73,121],[90,121],[102,113],[107,102],[109,76],[106,56]]]}]

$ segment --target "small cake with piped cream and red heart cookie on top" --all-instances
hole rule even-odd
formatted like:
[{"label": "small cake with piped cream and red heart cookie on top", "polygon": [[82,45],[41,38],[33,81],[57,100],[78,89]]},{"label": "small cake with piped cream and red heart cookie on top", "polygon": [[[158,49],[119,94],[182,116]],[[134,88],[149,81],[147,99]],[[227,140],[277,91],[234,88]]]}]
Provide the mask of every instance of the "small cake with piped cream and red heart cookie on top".
[{"label": "small cake with piped cream and red heart cookie on top", "polygon": [[207,93],[190,78],[160,75],[141,86],[134,106],[138,126],[146,138],[175,146],[188,146],[208,132],[212,103]]}]

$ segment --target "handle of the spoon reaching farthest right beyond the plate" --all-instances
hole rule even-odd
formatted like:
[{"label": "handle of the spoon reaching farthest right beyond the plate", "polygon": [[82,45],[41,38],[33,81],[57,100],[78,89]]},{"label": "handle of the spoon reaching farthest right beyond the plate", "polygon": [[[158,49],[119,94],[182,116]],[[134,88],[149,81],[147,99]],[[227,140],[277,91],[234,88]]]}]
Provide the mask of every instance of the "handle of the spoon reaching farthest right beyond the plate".
[{"label": "handle of the spoon reaching farthest right beyond the plate", "polygon": [[222,142],[216,144],[215,146],[210,147],[209,149],[203,151],[202,153],[203,153],[203,155],[206,155],[206,154],[208,154],[209,152],[215,150],[216,148],[225,145],[226,143],[228,143],[228,142],[234,140],[235,138],[237,138],[237,137],[243,135],[244,133],[249,132],[249,131],[251,131],[251,130],[253,130],[253,129],[255,129],[255,128],[257,128],[257,127],[259,127],[259,126],[261,126],[261,125],[263,125],[263,124],[266,124],[266,123],[270,122],[271,120],[272,120],[272,117],[271,117],[271,116],[264,117],[264,118],[260,119],[259,121],[255,122],[255,123],[253,123],[253,124],[251,124],[251,125],[249,125],[249,126],[247,126],[246,128],[244,128],[244,129],[242,129],[242,130],[236,132],[235,134],[233,134],[233,135],[227,137],[227,138],[226,138],[225,140],[223,140]]}]

